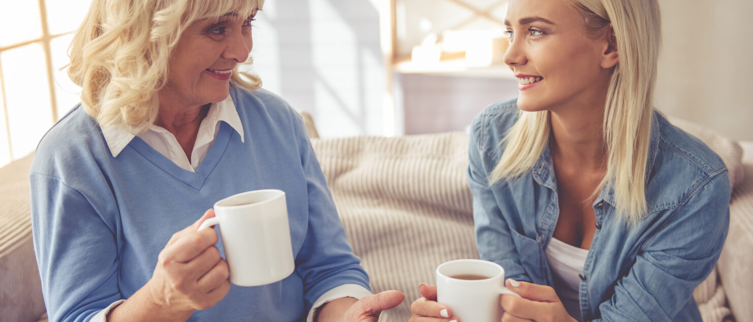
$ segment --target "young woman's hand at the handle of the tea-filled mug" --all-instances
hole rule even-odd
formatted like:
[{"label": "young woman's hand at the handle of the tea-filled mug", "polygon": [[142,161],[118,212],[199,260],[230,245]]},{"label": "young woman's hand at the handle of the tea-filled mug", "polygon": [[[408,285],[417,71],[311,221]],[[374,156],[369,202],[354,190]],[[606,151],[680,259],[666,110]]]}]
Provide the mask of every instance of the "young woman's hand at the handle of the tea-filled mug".
[{"label": "young woman's hand at the handle of the tea-filled mug", "polygon": [[565,305],[559,300],[557,293],[552,287],[515,281],[505,281],[505,286],[522,297],[503,295],[501,299],[502,322],[529,321],[537,322],[572,322],[575,321],[566,311]]}]

